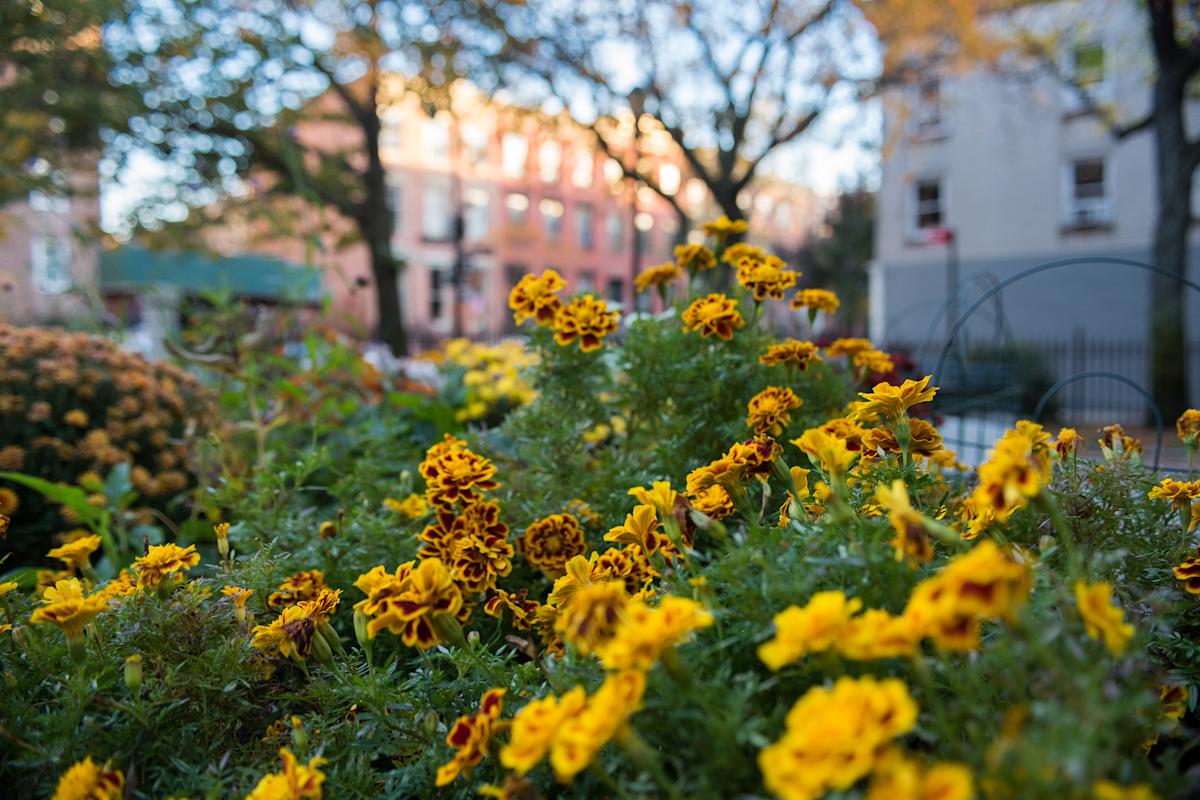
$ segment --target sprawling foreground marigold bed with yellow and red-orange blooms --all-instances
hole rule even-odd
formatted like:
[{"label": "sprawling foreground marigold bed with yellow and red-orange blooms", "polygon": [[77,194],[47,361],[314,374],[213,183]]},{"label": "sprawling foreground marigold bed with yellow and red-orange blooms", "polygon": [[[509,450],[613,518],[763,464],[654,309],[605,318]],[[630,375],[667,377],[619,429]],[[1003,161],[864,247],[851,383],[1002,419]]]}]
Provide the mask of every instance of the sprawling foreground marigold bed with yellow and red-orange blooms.
[{"label": "sprawling foreground marigold bed with yellow and red-orange blooms", "polygon": [[215,547],[0,579],[11,793],[1194,796],[1200,479],[1028,420],[964,463],[935,381],[768,330],[838,305],[704,230],[653,315],[518,284],[496,427],[396,398],[227,468]]}]

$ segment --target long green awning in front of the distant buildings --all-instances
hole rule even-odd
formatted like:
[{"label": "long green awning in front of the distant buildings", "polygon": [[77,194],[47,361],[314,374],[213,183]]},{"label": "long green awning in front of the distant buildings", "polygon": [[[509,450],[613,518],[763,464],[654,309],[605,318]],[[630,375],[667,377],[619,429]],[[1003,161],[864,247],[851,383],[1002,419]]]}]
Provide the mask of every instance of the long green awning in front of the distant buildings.
[{"label": "long green awning in front of the distant buildings", "polygon": [[270,255],[210,258],[186,251],[126,246],[100,254],[102,291],[137,293],[155,285],[187,293],[228,291],[238,297],[319,302],[320,271]]}]

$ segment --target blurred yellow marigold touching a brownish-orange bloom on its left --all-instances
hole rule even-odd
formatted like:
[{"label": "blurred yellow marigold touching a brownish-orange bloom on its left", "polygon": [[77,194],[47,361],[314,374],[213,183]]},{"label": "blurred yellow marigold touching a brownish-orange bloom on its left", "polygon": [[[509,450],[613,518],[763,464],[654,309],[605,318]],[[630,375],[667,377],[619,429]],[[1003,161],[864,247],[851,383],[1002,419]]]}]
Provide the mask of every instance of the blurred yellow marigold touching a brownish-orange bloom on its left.
[{"label": "blurred yellow marigold touching a brownish-orange bloom on its left", "polygon": [[658,608],[632,601],[622,612],[617,632],[596,646],[596,656],[605,669],[646,672],[666,650],[712,624],[713,615],[686,597],[664,597]]}]

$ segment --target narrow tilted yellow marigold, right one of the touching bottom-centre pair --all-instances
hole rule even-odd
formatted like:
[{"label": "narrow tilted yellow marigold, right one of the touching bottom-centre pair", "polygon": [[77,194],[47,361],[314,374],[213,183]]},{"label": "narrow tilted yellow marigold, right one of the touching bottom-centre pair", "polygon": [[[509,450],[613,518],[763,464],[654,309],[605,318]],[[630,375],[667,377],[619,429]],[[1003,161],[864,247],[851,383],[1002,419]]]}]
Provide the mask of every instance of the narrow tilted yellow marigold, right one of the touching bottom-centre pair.
[{"label": "narrow tilted yellow marigold, right one of the touching bottom-centre pair", "polygon": [[570,783],[608,741],[642,708],[646,675],[636,669],[610,673],[604,685],[588,698],[575,716],[568,717],[554,734],[550,764],[554,777]]}]

